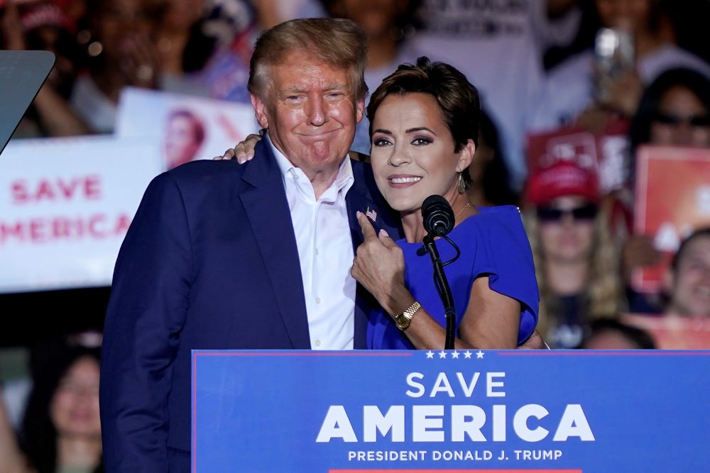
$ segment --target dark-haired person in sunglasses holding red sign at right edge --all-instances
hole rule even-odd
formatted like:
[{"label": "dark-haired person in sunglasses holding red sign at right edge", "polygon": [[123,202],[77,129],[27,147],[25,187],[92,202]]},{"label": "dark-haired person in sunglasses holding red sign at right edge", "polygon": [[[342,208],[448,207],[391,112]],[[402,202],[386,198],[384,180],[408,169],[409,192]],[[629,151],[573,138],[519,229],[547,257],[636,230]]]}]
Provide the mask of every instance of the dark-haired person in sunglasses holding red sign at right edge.
[{"label": "dark-haired person in sunglasses holding red sign at right edge", "polygon": [[[645,89],[629,136],[632,158],[641,145],[710,148],[710,79],[685,68],[660,74]],[[630,289],[634,269],[659,261],[660,252],[655,250],[650,235],[631,235],[623,242],[623,274],[630,311],[663,310],[664,303],[658,295]]]}]

